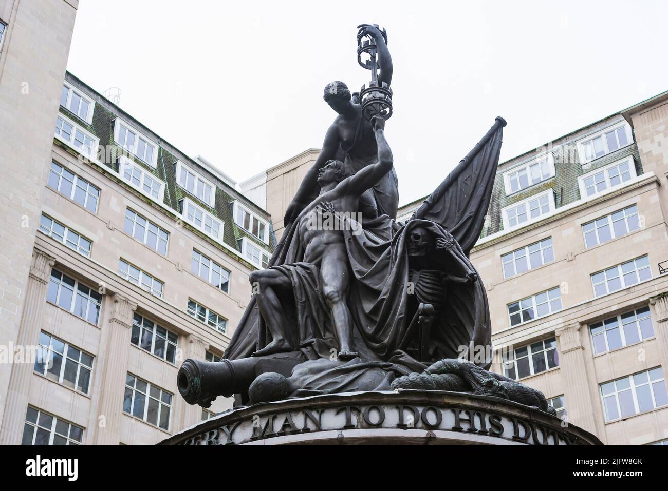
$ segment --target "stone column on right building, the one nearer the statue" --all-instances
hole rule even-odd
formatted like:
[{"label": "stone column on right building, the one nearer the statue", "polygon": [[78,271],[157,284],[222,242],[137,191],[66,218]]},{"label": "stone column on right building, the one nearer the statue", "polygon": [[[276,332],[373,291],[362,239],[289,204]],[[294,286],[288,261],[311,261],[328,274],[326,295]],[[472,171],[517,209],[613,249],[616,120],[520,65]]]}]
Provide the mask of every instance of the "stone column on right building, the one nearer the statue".
[{"label": "stone column on right building, the one nearer the statue", "polygon": [[568,422],[597,434],[581,327],[582,325],[576,322],[556,330],[554,334],[559,338],[559,366],[566,379],[564,396]]}]

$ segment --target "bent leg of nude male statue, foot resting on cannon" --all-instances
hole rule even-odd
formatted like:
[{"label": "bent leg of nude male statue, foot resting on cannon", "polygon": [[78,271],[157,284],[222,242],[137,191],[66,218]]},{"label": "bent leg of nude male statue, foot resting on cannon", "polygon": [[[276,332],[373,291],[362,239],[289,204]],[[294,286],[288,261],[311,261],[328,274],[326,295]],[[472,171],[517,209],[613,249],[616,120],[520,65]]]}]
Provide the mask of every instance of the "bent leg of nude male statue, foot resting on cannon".
[{"label": "bent leg of nude male statue, foot resting on cannon", "polygon": [[288,329],[287,316],[283,314],[283,306],[277,295],[279,292],[292,292],[292,284],[287,276],[279,270],[261,270],[251,273],[251,284],[258,285],[257,306],[267,324],[273,340],[265,348],[257,350],[253,356],[264,356],[275,353],[290,352],[293,350],[285,339]]}]

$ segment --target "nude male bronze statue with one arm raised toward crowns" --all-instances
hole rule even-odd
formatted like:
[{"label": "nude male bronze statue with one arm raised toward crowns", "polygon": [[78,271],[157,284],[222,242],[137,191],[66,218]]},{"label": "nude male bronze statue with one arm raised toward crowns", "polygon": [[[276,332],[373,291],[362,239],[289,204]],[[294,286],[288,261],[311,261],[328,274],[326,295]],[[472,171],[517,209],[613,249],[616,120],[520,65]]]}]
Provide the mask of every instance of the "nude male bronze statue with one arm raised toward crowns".
[{"label": "nude male bronze statue with one arm raised toward crowns", "polygon": [[[323,205],[329,210],[357,212],[361,195],[391,171],[392,152],[383,133],[385,120],[374,116],[372,123],[377,143],[375,163],[350,175],[349,169],[341,161],[327,162],[318,172],[317,182],[320,185],[318,197],[297,216],[296,233],[304,248],[303,262],[318,268],[320,292],[331,310],[335,335],[339,341],[339,360],[351,360],[357,356],[357,352],[351,347],[353,320],[346,304],[350,288],[350,265],[341,228],[313,227],[311,213],[322,212]],[[299,265],[292,267],[298,268]],[[271,343],[253,355],[292,351],[294,347],[286,340],[286,316],[279,300],[279,294],[284,298],[285,293],[292,294],[291,281],[281,270],[275,268],[253,272],[249,279],[251,284],[255,282],[259,284],[258,307],[273,337]]]}]

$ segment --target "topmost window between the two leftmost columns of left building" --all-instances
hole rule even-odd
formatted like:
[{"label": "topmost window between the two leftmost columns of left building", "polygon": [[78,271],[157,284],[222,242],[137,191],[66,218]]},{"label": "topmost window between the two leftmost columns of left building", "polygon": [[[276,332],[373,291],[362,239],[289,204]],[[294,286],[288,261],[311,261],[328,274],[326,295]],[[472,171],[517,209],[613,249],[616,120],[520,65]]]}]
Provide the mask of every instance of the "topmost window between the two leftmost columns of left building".
[{"label": "topmost window between the two leftmost columns of left building", "polygon": [[102,295],[57,270],[51,270],[46,299],[96,326],[100,320]]}]

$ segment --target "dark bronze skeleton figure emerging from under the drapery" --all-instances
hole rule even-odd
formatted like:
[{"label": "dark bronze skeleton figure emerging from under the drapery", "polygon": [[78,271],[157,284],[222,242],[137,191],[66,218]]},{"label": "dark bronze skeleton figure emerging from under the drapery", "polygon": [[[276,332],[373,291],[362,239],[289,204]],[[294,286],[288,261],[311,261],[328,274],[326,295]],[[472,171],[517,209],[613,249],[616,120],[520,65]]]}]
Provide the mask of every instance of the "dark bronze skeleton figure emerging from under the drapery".
[{"label": "dark bronze skeleton figure emerging from under the drapery", "polygon": [[[444,258],[454,247],[454,238],[446,232],[446,237],[438,237],[434,243],[432,233],[425,227],[415,227],[406,243],[408,254],[409,305],[417,312],[411,323],[411,332],[418,330],[418,358],[425,361],[430,358],[430,330],[434,319],[438,318],[448,296],[448,286],[452,284],[470,285],[478,277],[474,272],[461,276],[461,268],[445,266],[444,269],[433,269],[435,265],[452,264],[448,260],[435,260],[434,256]],[[427,269],[430,268],[430,269]],[[418,324],[418,326],[415,326]],[[408,347],[406,347],[408,348]]]}]

